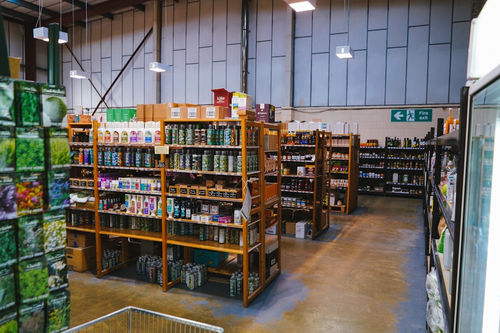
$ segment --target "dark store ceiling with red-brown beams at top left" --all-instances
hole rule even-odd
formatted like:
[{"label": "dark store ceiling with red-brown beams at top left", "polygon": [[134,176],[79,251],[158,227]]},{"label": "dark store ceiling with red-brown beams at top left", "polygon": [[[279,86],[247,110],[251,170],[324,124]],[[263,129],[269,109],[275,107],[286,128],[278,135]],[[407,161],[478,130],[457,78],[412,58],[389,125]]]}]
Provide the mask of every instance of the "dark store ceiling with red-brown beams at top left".
[{"label": "dark store ceiling with red-brown beams at top left", "polygon": [[113,19],[114,14],[132,8],[144,10],[146,2],[148,0],[1,0],[0,5],[4,18],[18,23],[36,24],[40,16],[41,25],[54,22],[70,27],[84,26],[85,20]]}]

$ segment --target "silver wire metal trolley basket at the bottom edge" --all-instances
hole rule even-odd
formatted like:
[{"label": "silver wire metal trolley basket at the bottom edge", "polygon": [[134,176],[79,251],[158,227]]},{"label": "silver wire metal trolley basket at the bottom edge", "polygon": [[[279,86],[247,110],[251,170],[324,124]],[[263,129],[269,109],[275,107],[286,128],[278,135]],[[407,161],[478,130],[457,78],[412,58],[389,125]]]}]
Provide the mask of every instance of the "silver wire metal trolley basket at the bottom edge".
[{"label": "silver wire metal trolley basket at the bottom edge", "polygon": [[126,307],[64,333],[223,333],[224,329],[135,307]]}]

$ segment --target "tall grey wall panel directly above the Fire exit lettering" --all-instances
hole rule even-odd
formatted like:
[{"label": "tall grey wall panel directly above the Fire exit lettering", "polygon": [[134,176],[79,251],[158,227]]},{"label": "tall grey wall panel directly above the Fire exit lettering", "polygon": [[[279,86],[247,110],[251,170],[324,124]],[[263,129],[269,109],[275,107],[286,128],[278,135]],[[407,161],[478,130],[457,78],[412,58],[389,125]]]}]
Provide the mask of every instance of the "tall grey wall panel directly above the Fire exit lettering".
[{"label": "tall grey wall panel directly above the Fire exit lettering", "polygon": [[425,104],[427,99],[428,47],[429,26],[410,27],[406,65],[406,104]]}]

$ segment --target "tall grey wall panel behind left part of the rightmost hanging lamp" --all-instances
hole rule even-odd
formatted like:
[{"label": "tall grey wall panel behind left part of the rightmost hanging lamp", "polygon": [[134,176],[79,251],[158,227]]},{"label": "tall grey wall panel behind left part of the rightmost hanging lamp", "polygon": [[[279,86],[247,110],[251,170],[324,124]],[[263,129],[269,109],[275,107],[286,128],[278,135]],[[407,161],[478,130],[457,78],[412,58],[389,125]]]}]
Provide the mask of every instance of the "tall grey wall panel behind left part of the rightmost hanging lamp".
[{"label": "tall grey wall panel behind left part of the rightmost hanging lamp", "polygon": [[343,43],[343,35],[330,36],[330,68],[328,105],[345,105],[347,91],[347,61],[335,55],[335,46]]}]

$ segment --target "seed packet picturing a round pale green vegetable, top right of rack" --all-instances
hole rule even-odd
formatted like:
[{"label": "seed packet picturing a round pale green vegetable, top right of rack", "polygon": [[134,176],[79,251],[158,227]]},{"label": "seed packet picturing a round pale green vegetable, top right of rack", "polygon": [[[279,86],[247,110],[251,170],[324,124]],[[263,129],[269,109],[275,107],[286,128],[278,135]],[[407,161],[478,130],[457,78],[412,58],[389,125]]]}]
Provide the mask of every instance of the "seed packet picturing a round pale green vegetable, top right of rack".
[{"label": "seed packet picturing a round pale green vegetable, top right of rack", "polygon": [[66,121],[66,88],[63,85],[41,84],[41,126],[65,127]]}]

